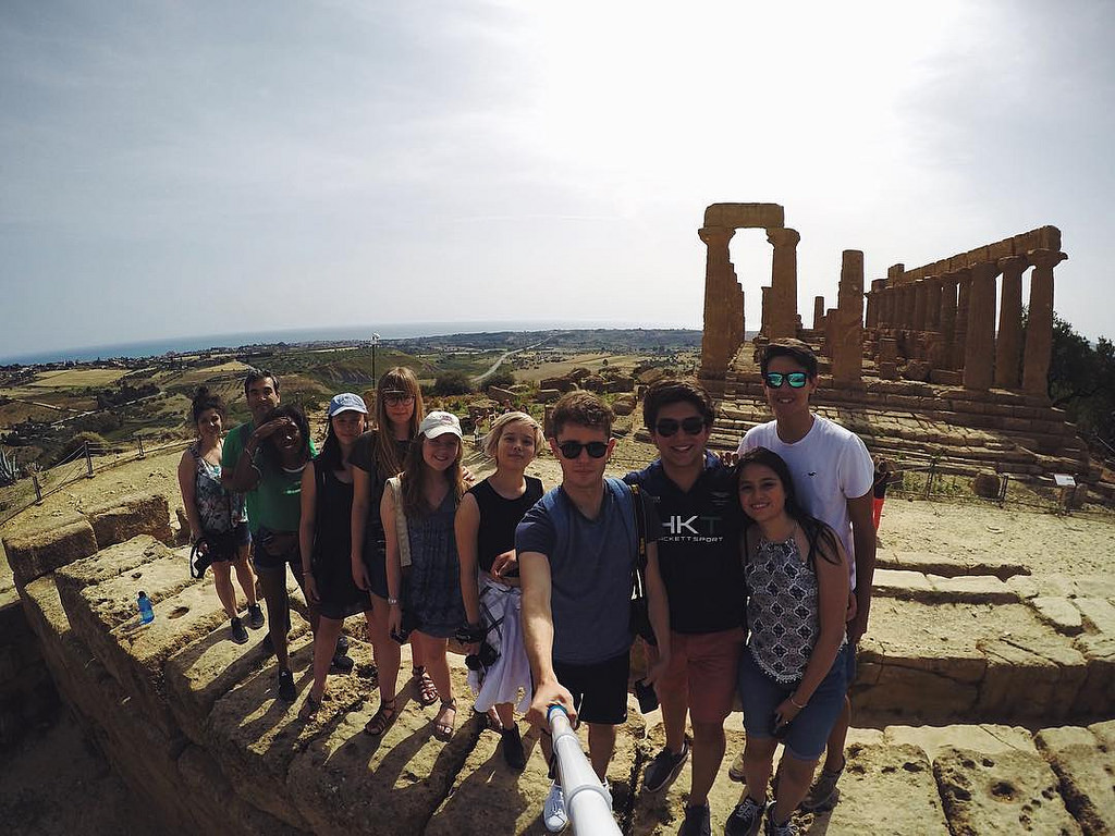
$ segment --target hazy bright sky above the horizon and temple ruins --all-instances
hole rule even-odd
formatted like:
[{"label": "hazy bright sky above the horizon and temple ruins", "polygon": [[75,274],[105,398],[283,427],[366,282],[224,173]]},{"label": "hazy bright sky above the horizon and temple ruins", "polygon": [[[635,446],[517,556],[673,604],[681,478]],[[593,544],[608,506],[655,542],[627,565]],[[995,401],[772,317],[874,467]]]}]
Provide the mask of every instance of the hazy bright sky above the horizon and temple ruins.
[{"label": "hazy bright sky above the horizon and temple ruins", "polygon": [[[0,357],[454,320],[701,327],[705,206],[798,310],[1045,224],[1115,336],[1115,3],[0,6]],[[758,327],[762,231],[733,259]]]}]

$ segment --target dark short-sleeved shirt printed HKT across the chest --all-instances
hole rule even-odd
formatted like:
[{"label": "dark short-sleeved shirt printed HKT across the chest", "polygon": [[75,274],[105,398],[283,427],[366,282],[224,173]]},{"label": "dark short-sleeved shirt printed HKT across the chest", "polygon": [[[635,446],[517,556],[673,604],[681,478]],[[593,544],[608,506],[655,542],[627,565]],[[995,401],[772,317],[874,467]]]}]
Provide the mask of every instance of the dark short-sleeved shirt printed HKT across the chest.
[{"label": "dark short-sleeved shirt printed HKT across the chest", "polygon": [[658,459],[623,480],[655,498],[661,521],[658,566],[670,601],[670,630],[715,633],[743,626],[743,512],[731,470],[706,451],[705,469],[688,492],[670,480]]}]

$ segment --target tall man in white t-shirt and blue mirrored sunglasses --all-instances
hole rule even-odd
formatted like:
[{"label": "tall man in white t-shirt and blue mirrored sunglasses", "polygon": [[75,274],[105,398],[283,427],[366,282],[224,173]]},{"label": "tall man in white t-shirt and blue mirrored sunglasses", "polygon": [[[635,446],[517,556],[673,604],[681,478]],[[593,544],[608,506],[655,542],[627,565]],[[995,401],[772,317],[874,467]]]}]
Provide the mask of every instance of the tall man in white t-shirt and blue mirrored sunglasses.
[{"label": "tall man in white t-shirt and blue mirrored sunglasses", "polygon": [[[854,432],[809,410],[809,396],[817,388],[817,358],[806,343],[775,340],[763,349],[759,369],[775,419],[747,430],[737,453],[766,447],[782,456],[794,477],[802,507],[840,535],[849,555],[854,593],[849,605],[847,640],[855,645],[867,630],[875,572],[871,454]],[[852,663],[847,678],[851,686],[855,680],[855,653],[847,658]],[[844,770],[844,741],[851,720],[852,703],[845,697],[844,710],[828,736],[821,775],[802,803],[803,809],[831,809],[840,799],[836,781]]]}]

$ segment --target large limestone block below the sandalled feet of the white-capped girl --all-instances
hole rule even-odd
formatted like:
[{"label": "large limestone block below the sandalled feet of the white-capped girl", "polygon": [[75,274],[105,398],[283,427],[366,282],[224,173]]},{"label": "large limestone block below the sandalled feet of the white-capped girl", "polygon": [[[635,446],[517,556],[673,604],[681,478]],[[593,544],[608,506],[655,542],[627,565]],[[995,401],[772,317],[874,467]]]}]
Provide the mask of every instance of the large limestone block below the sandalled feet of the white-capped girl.
[{"label": "large limestone block below the sandalled feet of the white-capped girl", "polygon": [[[408,670],[406,663],[403,670]],[[450,675],[459,709],[456,731],[448,742],[430,733],[436,709],[409,700],[409,688],[404,682],[400,712],[380,738],[361,733],[378,706],[378,697],[357,703],[346,698],[342,704],[348,703],[351,710],[311,723],[312,739],[303,736],[298,747],[287,739],[270,745],[268,760],[274,758],[277,749],[282,758],[288,748],[297,749],[284,793],[314,833],[424,832],[485,726],[483,716],[469,715],[465,668],[459,657],[450,657]],[[539,755],[533,760],[534,768],[539,768]],[[390,823],[389,828],[384,823]],[[456,833],[471,829],[462,828],[459,818],[446,825]]]}]

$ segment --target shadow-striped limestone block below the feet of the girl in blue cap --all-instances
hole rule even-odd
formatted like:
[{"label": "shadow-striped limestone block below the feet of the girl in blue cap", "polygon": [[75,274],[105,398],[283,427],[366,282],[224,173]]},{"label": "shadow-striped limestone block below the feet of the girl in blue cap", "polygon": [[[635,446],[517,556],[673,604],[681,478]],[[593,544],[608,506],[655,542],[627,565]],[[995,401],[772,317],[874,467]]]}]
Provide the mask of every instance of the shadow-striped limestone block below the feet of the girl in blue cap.
[{"label": "shadow-striped limestone block below the feet of the girl in blue cap", "polygon": [[[295,683],[303,693],[309,686],[312,641],[309,636],[298,639],[290,651]],[[277,698],[275,667],[269,664],[216,701],[205,727],[205,749],[244,801],[291,827],[309,830],[287,787],[287,771],[320,729],[298,720],[298,706]]]}]

